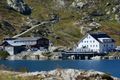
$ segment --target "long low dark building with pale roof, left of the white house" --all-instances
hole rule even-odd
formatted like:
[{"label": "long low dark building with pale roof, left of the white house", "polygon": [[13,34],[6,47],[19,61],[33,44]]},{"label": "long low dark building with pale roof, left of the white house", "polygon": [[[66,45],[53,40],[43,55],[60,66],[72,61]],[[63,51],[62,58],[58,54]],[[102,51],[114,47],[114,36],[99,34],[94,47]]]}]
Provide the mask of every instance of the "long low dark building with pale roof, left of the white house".
[{"label": "long low dark building with pale roof, left of the white house", "polygon": [[40,37],[7,38],[2,46],[10,55],[14,55],[27,50],[48,49],[49,40]]}]

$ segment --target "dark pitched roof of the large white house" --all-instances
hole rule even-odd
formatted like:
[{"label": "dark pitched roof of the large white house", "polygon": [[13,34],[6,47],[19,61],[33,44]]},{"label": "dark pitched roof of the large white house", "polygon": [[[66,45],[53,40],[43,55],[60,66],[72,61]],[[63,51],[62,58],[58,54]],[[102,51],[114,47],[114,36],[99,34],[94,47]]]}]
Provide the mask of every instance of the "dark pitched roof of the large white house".
[{"label": "dark pitched roof of the large white house", "polygon": [[[101,42],[99,38],[111,38],[109,35],[103,32],[97,32],[97,33],[89,33],[93,38],[95,38],[97,41]],[[112,39],[112,38],[111,38]],[[112,42],[115,42],[114,39],[112,39]]]}]

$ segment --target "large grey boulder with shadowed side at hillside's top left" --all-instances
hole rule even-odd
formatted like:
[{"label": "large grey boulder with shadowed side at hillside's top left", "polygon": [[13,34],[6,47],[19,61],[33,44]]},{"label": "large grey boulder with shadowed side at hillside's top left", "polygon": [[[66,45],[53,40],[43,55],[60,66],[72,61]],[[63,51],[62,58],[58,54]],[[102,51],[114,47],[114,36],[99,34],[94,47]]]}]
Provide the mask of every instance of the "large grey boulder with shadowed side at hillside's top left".
[{"label": "large grey boulder with shadowed side at hillside's top left", "polygon": [[22,14],[31,14],[30,7],[27,4],[25,4],[23,0],[7,0],[7,4],[10,8]]}]

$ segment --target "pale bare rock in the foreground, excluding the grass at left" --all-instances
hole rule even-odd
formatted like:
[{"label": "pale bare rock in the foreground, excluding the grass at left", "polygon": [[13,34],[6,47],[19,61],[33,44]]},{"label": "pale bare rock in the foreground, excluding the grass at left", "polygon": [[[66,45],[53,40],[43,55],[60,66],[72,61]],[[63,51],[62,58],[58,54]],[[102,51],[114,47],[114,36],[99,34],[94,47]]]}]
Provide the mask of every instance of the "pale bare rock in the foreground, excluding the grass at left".
[{"label": "pale bare rock in the foreground, excluding the grass at left", "polygon": [[22,73],[17,76],[36,76],[40,77],[42,80],[118,80],[102,72],[75,69],[56,69],[48,72]]}]

